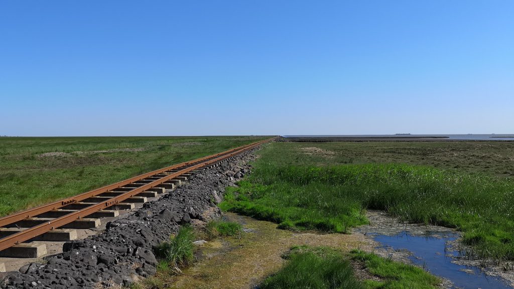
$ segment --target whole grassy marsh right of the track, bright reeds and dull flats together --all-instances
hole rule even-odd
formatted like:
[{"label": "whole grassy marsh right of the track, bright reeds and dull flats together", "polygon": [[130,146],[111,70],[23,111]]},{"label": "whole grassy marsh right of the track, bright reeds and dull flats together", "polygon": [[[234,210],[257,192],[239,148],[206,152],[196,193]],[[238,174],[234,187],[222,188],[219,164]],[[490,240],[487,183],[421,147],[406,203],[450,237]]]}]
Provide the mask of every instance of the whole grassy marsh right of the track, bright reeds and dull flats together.
[{"label": "whole grassy marsh right of the track, bright reeds and dull flats together", "polygon": [[[396,148],[392,156],[373,156],[389,146]],[[473,146],[483,150],[472,153]],[[380,209],[410,222],[461,230],[479,257],[514,260],[514,179],[482,168],[482,157],[473,158],[496,155],[507,162],[511,147],[511,142],[270,143],[259,152],[253,173],[228,190],[221,208],[282,228],[331,232],[347,232],[366,222],[365,209]],[[348,153],[353,148],[360,153]],[[468,154],[448,153],[466,149]],[[432,153],[421,153],[427,150]],[[423,166],[413,165],[417,162]],[[467,165],[455,168],[451,162]]]}]

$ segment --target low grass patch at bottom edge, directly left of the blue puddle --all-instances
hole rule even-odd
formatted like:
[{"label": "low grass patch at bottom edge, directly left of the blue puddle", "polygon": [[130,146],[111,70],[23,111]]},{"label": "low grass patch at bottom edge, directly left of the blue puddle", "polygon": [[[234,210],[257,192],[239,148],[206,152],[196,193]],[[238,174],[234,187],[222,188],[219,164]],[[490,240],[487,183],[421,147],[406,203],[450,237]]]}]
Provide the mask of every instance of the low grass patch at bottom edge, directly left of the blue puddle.
[{"label": "low grass patch at bottom edge, directly left of the blue puddle", "polygon": [[370,274],[383,280],[366,280],[364,281],[366,288],[431,289],[440,283],[437,277],[413,265],[395,262],[361,250],[354,250],[351,255],[353,260],[362,262]]}]

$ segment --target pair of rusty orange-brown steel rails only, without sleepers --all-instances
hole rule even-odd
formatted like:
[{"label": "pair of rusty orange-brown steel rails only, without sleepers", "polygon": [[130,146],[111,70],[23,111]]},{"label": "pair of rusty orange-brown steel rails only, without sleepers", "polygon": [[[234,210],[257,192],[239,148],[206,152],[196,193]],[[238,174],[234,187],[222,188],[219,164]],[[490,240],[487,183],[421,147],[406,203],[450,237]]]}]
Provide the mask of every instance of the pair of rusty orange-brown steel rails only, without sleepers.
[{"label": "pair of rusty orange-brown steel rails only, without sleepers", "polygon": [[93,214],[93,213],[103,210],[107,207],[114,206],[114,205],[126,200],[129,197],[135,196],[138,193],[141,193],[141,192],[144,192],[151,188],[157,187],[158,185],[165,183],[168,180],[171,180],[177,176],[180,176],[181,174],[191,172],[198,168],[210,165],[213,162],[221,161],[221,160],[230,158],[232,156],[235,156],[237,154],[243,153],[247,150],[258,147],[265,142],[269,142],[272,139],[274,139],[274,138],[269,138],[269,139],[265,139],[262,141],[250,143],[249,145],[241,146],[241,147],[238,147],[238,148],[235,148],[232,150],[228,150],[228,151],[225,151],[222,153],[198,158],[198,159],[195,159],[192,161],[181,162],[180,164],[177,164],[177,165],[173,165],[173,166],[155,170],[155,171],[152,171],[149,173],[141,174],[141,175],[138,175],[138,176],[126,179],[126,180],[122,180],[121,182],[118,182],[118,183],[115,183],[112,185],[108,185],[108,186],[105,186],[105,187],[102,187],[99,189],[95,189],[92,191],[88,191],[88,192],[73,196],[73,197],[65,198],[65,199],[57,201],[57,202],[49,203],[49,204],[46,204],[46,205],[43,205],[40,207],[28,209],[28,210],[25,210],[25,211],[22,211],[19,213],[15,213],[15,214],[0,218],[0,227],[5,227],[5,226],[13,224],[15,222],[22,221],[26,218],[30,218],[33,216],[43,214],[45,212],[49,212],[49,211],[56,210],[56,209],[59,209],[62,207],[66,207],[67,205],[86,200],[89,197],[94,197],[99,194],[109,192],[113,189],[117,189],[117,188],[123,187],[125,185],[135,183],[138,180],[152,177],[152,176],[155,176],[155,175],[158,175],[158,174],[161,174],[161,173],[173,170],[173,169],[180,169],[177,172],[172,172],[172,173],[168,172],[168,175],[166,175],[166,176],[159,176],[159,179],[153,180],[152,182],[144,184],[137,188],[133,188],[127,192],[120,192],[119,195],[110,197],[105,201],[98,202],[96,204],[93,204],[91,206],[85,207],[80,210],[75,210],[75,211],[65,214],[63,216],[60,216],[59,218],[55,218],[48,222],[30,227],[30,228],[27,228],[20,232],[6,236],[6,237],[0,239],[0,250],[4,250],[13,245],[30,240],[30,239],[37,237],[45,232],[59,228],[61,226],[64,226],[71,222],[74,222],[75,220],[84,218],[87,215]]}]

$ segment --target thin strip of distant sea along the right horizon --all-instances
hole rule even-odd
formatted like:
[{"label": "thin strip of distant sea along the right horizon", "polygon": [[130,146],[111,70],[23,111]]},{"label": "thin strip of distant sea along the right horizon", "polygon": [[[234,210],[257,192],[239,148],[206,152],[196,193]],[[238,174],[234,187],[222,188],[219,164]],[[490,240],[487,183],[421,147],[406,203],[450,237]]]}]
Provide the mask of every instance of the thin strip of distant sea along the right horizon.
[{"label": "thin strip of distant sea along the right horizon", "polygon": [[377,134],[377,135],[284,135],[283,137],[343,137],[343,138],[427,138],[454,140],[514,140],[514,134]]}]

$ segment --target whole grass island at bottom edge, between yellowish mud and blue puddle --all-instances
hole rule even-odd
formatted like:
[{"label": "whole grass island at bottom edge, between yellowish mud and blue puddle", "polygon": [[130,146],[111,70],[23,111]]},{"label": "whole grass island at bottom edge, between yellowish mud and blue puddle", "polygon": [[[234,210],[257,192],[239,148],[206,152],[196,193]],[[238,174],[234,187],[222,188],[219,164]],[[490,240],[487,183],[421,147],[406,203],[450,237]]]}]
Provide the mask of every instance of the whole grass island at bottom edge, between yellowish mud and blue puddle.
[{"label": "whole grass island at bottom edge, between yellowish mud and blue puddle", "polygon": [[[295,246],[283,256],[284,266],[261,284],[263,289],[433,289],[439,279],[423,269],[354,250],[350,256],[329,247]],[[380,281],[358,280],[353,262],[364,264],[368,274]]]}]

